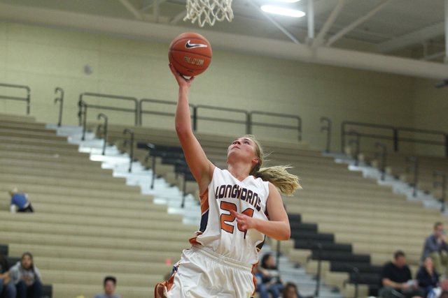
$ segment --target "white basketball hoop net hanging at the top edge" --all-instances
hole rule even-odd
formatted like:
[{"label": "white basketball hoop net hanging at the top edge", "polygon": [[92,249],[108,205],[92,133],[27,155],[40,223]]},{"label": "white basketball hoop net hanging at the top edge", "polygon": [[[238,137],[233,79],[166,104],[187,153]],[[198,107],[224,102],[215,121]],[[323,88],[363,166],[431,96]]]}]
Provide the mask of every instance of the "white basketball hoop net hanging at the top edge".
[{"label": "white basketball hoop net hanging at the top edge", "polygon": [[191,20],[192,23],[197,20],[200,27],[205,23],[213,26],[216,21],[223,22],[224,19],[232,22],[231,5],[232,0],[187,0],[187,15],[183,20]]}]

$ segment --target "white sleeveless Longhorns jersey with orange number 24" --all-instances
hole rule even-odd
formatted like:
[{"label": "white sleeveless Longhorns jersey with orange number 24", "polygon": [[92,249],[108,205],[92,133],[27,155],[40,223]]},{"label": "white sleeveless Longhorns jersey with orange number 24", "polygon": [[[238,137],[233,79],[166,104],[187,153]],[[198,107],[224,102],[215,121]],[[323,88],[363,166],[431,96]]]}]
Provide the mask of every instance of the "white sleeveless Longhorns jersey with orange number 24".
[{"label": "white sleeveless Longhorns jersey with orange number 24", "polygon": [[255,265],[265,235],[258,230],[241,230],[230,210],[267,221],[268,182],[248,176],[239,181],[228,170],[215,167],[211,183],[201,195],[201,226],[190,239],[226,258]]}]

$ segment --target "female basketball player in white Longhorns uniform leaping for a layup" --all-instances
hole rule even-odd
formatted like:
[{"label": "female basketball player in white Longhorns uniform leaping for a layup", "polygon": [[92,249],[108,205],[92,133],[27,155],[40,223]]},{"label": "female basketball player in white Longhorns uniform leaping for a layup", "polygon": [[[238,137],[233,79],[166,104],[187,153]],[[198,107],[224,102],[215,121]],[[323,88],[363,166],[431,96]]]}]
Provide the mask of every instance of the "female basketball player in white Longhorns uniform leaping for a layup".
[{"label": "female basketball player in white Longhorns uniform leaping for a layup", "polygon": [[[249,298],[255,293],[252,269],[265,235],[290,237],[288,216],[279,191],[291,195],[300,188],[287,167],[260,169],[262,147],[252,135],[239,137],[228,148],[228,170],[213,165],[204,154],[190,123],[186,79],[169,67],[179,84],[176,132],[188,166],[200,189],[201,225],[174,266],[173,275],[155,287],[156,298]],[[268,221],[269,216],[269,221]]]}]

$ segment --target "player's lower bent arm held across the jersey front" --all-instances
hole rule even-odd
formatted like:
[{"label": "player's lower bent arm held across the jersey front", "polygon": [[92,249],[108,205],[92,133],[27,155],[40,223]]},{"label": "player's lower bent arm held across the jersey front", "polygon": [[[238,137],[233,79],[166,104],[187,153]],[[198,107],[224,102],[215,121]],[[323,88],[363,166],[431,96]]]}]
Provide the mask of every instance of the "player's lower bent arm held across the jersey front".
[{"label": "player's lower bent arm held across the jersey front", "polygon": [[245,214],[239,214],[233,210],[230,211],[237,218],[237,223],[244,230],[255,229],[276,240],[288,240],[291,229],[286,214],[285,207],[279,191],[274,184],[269,182],[269,196],[266,202],[266,211],[269,214],[270,221],[263,221],[258,218],[252,218]]}]

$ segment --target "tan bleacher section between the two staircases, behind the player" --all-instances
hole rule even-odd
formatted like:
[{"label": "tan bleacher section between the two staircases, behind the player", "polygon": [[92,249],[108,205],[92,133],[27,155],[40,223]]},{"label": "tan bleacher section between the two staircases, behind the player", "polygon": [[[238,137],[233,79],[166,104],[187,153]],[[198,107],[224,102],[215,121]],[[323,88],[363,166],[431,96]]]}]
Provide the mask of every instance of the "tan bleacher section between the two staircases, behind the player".
[{"label": "tan bleacher section between the two staircases, behind the player", "polygon": [[[109,142],[127,151],[129,148],[123,147],[123,128],[109,126]],[[132,131],[139,142],[179,146],[174,130],[132,127]],[[218,167],[227,167],[227,148],[233,138],[195,134],[209,159]],[[293,230],[292,239],[283,243],[281,249],[290,260],[316,274],[317,252],[309,245],[321,242],[323,278],[346,297],[353,297],[356,281],[360,284],[360,297],[377,294],[381,266],[398,249],[407,253],[415,274],[423,240],[430,234],[433,223],[447,222],[437,210],[424,209],[421,202],[406,200],[405,195],[393,193],[391,187],[379,186],[373,179],[363,178],[360,172],[347,170],[346,165],[335,163],[306,144],[260,141],[266,151],[272,152],[269,160],[293,165],[290,172],[302,179],[302,191],[292,198],[283,196]],[[160,172],[156,167],[155,172],[170,177],[174,167]],[[190,192],[197,196],[197,189]],[[293,220],[297,214],[300,221]],[[353,266],[359,269],[358,276]]]}]

